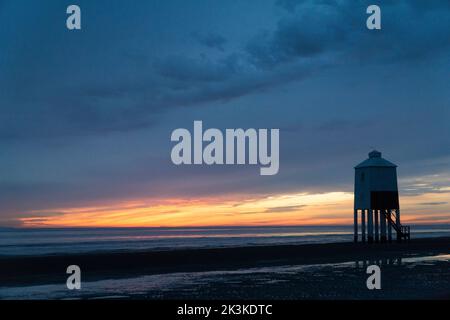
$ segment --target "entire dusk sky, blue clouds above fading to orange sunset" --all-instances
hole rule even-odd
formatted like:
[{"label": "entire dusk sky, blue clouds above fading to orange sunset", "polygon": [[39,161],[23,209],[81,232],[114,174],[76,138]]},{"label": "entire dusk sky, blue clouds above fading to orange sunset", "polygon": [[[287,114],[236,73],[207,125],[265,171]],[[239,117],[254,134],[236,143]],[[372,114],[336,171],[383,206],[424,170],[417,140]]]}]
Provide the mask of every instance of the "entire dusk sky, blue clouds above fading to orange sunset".
[{"label": "entire dusk sky, blue clouds above fading to orange sunset", "polygon": [[[0,0],[0,226],[350,224],[373,149],[450,223],[450,2],[372,2]],[[279,128],[279,173],[175,166],[195,120]]]}]

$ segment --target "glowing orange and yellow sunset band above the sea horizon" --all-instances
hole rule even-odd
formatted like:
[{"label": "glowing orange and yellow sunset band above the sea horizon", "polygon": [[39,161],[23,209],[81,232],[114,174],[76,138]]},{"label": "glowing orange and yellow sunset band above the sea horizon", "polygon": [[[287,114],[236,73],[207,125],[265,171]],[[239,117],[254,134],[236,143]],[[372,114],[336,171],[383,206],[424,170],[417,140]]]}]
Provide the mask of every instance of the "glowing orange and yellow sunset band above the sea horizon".
[{"label": "glowing orange and yellow sunset band above the sea horizon", "polygon": [[[446,193],[402,197],[402,222],[450,223],[447,200]],[[426,207],[424,203],[441,205]],[[244,197],[239,201],[226,198],[133,200],[34,210],[27,214],[19,221],[29,228],[350,225],[353,224],[353,193],[292,193]]]}]

